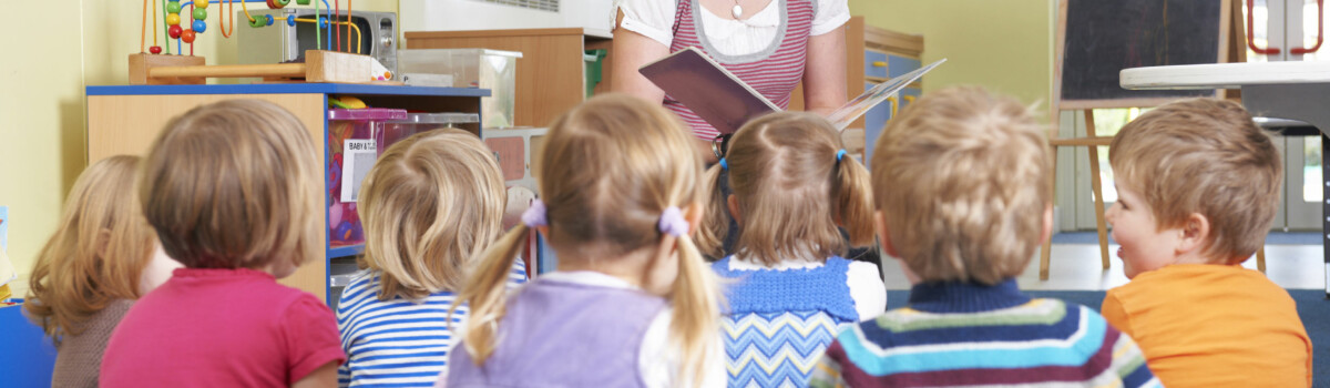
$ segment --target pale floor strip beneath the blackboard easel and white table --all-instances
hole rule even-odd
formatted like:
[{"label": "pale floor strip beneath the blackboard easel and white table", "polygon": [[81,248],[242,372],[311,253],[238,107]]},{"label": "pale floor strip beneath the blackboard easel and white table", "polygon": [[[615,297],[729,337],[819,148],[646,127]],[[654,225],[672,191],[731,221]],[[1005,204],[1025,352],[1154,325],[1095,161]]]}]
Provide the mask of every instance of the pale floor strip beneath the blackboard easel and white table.
[{"label": "pale floor strip beneath the blackboard easel and white table", "polygon": [[[1127,283],[1127,276],[1123,275],[1123,263],[1117,259],[1117,244],[1109,244],[1108,252],[1109,268],[1103,270],[1099,244],[1093,239],[1087,243],[1053,243],[1048,280],[1039,280],[1036,251],[1029,267],[1017,282],[1021,290],[1103,291],[1123,286]],[[1266,275],[1281,287],[1325,288],[1326,264],[1321,244],[1267,244],[1265,263]],[[1242,266],[1256,270],[1256,258],[1248,259]],[[883,272],[887,290],[910,290],[910,282],[900,272],[899,262],[886,259]]]}]

